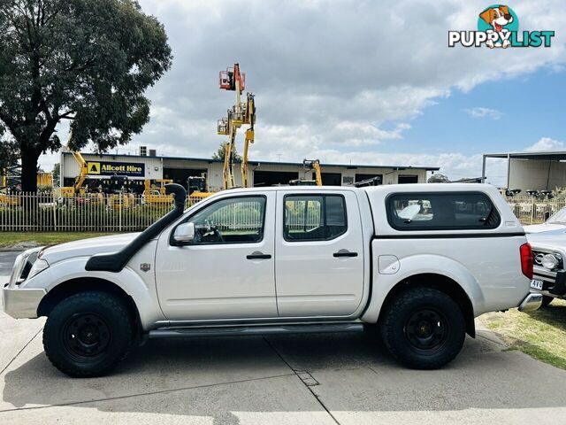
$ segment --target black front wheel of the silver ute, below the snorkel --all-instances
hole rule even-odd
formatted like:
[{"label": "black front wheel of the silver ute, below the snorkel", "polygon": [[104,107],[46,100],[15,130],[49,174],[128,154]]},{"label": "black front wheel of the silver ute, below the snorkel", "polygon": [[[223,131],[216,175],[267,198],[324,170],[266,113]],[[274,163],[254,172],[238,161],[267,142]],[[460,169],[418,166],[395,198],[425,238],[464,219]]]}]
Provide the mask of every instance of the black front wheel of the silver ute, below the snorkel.
[{"label": "black front wheel of the silver ute, below the snorkel", "polygon": [[134,344],[134,320],[124,302],[109,293],[87,291],[65,298],[50,313],[43,348],[61,372],[100,376],[126,358]]}]

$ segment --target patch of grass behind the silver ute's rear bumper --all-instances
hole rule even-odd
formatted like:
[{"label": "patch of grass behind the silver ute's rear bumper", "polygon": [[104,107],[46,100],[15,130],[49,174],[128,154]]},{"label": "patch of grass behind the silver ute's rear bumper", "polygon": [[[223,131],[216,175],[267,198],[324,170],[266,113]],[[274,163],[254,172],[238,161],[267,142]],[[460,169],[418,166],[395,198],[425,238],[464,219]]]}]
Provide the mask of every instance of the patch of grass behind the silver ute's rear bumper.
[{"label": "patch of grass behind the silver ute's rear bumper", "polygon": [[521,313],[516,308],[507,313],[486,313],[479,318],[509,345],[566,369],[566,301],[555,299],[551,305],[533,313]]}]

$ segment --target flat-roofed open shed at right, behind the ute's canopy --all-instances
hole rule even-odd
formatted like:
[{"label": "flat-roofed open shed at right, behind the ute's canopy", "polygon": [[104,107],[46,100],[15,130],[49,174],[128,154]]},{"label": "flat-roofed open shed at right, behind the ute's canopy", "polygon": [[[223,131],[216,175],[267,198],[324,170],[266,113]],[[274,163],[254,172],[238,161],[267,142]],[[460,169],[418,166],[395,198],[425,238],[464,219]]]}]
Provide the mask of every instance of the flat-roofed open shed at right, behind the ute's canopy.
[{"label": "flat-roofed open shed at right, behind the ute's canopy", "polygon": [[486,159],[507,161],[505,189],[554,190],[566,187],[566,151],[486,153],[482,177],[486,178]]}]

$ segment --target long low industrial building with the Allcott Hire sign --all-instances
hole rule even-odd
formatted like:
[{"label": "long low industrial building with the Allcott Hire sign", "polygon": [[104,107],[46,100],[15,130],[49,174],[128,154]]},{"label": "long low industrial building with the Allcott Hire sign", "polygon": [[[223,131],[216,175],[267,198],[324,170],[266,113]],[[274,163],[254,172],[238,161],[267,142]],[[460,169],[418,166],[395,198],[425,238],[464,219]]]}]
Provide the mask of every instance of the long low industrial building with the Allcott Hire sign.
[{"label": "long low industrial building with the Allcott Hire sign", "polygon": [[[108,179],[111,175],[125,175],[134,186],[143,188],[146,179],[172,179],[183,186],[189,176],[206,174],[211,191],[222,189],[224,161],[211,158],[161,157],[155,151],[142,150],[142,155],[82,153],[88,163],[88,179]],[[236,183],[240,181],[240,164],[236,164]],[[424,183],[427,172],[435,172],[435,166],[360,166],[353,164],[321,165],[324,185],[346,185],[377,177],[382,184]],[[251,185],[255,187],[287,184],[295,179],[312,179],[299,162],[249,161]],[[80,173],[80,166],[71,152],[61,153],[60,184],[72,186]],[[135,182],[139,184],[136,186]]]}]

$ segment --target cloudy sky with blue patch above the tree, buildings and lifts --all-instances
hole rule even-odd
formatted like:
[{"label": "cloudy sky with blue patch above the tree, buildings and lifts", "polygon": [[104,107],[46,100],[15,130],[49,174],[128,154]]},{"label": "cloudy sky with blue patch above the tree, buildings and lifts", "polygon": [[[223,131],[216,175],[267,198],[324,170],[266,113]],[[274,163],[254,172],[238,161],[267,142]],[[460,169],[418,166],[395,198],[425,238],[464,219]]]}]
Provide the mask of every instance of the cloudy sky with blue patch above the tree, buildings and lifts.
[{"label": "cloudy sky with blue patch above the tree, buildings and lifts", "polygon": [[[507,50],[447,47],[449,30],[477,29],[489,2],[475,0],[140,4],[164,23],[174,59],[149,89],[151,121],[120,153],[210,157],[233,104],[218,71],[234,62],[256,94],[253,159],[440,166],[455,179],[480,174],[484,152],[566,148],[563,0],[509,4],[520,30],[556,36]],[[490,181],[504,170],[488,163]]]}]

